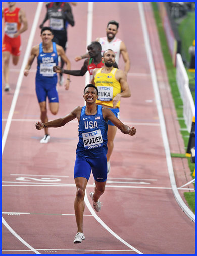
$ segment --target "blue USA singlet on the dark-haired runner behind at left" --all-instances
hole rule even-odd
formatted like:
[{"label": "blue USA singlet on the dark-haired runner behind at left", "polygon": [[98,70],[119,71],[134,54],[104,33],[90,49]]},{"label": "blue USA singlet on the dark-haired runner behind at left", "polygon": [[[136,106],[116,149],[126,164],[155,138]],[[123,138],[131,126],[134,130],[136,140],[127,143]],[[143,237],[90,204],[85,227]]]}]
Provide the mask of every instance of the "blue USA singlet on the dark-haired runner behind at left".
[{"label": "blue USA singlet on the dark-haired runner behind at left", "polygon": [[46,77],[55,77],[57,73],[53,72],[53,66],[58,65],[58,54],[55,42],[53,44],[53,52],[44,53],[42,49],[42,42],[39,45],[39,55],[37,57],[37,73],[36,78],[45,79]]}]

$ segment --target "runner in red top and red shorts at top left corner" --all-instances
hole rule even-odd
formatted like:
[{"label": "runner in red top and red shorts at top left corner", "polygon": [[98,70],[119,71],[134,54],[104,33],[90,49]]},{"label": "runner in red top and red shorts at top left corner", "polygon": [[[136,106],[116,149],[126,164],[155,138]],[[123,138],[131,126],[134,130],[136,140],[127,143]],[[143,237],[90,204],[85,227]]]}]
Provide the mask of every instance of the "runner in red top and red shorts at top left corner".
[{"label": "runner in red top and red shorts at top left corner", "polygon": [[[21,54],[21,36],[28,28],[25,12],[16,7],[16,2],[8,2],[8,8],[2,9],[4,17],[5,34],[2,43],[3,52],[3,74],[5,80],[5,91],[10,90],[9,86],[9,60],[12,55],[14,65],[18,64]],[[21,28],[21,24],[23,27]]]}]

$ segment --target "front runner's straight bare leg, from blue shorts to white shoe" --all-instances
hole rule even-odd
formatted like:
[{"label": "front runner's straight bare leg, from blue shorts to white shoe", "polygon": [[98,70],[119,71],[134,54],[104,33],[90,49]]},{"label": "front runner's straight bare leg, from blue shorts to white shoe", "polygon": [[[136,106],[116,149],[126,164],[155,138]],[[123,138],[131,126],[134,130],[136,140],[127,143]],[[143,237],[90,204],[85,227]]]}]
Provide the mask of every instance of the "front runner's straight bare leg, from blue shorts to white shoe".
[{"label": "front runner's straight bare leg, from blue shorts to white shoe", "polygon": [[83,212],[85,209],[84,196],[85,189],[87,186],[87,179],[84,177],[75,178],[75,184],[77,188],[74,208],[75,208],[75,218],[77,222],[77,232],[83,233]]}]

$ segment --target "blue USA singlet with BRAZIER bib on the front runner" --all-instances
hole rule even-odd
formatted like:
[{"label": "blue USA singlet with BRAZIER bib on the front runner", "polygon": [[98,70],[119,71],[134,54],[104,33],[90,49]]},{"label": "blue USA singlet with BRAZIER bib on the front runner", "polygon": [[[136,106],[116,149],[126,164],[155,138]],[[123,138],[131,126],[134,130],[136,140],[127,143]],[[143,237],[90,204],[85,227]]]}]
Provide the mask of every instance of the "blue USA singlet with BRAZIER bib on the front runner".
[{"label": "blue USA singlet with BRAZIER bib on the front runner", "polygon": [[108,131],[108,125],[102,114],[102,106],[97,105],[96,115],[86,115],[85,109],[86,106],[81,109],[76,154],[85,157],[101,157],[107,154]]}]

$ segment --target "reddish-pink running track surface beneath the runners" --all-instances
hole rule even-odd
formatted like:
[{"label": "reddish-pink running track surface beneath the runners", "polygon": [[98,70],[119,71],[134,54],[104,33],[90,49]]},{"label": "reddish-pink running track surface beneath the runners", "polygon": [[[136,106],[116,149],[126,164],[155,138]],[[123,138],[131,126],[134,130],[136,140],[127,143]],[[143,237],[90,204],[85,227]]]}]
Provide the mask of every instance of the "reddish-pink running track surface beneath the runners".
[{"label": "reddish-pink running track surface beneath the runners", "polygon": [[[5,132],[37,2],[18,2],[17,5],[23,6],[26,11],[29,29],[22,34],[23,50],[19,65],[10,65],[12,90],[9,93],[2,91],[2,133]],[[2,3],[2,6],[6,6],[6,3]],[[153,57],[170,149],[172,152],[179,152],[183,143],[179,135],[177,138],[172,136],[174,131],[177,132],[178,125],[176,121],[172,125],[170,120],[175,116],[175,111],[171,104],[150,3],[145,3],[144,7],[151,46],[154,49]],[[73,13],[76,25],[69,27],[67,56],[71,60],[72,69],[78,69],[82,62],[76,63],[74,57],[86,51],[87,3],[78,2],[73,7]],[[44,15],[43,5],[38,24]],[[35,95],[34,60],[29,76],[22,79],[2,155],[2,216],[6,225],[2,225],[3,254],[195,252],[195,225],[180,209],[171,190],[137,2],[114,2],[113,6],[109,2],[95,2],[92,40],[105,35],[106,24],[111,19],[119,21],[118,37],[126,43],[131,59],[128,83],[132,96],[121,101],[121,120],[134,125],[137,133],[134,137],[128,137],[117,132],[111,172],[106,191],[101,197],[102,210],[95,215],[95,211],[89,206],[91,201],[86,198],[86,239],[81,244],[73,244],[76,234],[73,167],[78,124],[73,121],[58,130],[51,129],[50,143],[39,143],[43,133],[34,126],[40,115]],[[40,42],[39,33],[40,29],[37,28],[32,45]],[[120,67],[123,68],[122,60]],[[57,116],[49,113],[50,119],[64,116],[75,106],[84,104],[82,92],[85,78],[72,77],[71,80],[69,91],[58,86],[60,109]],[[184,167],[184,172],[188,173],[184,164],[173,160],[179,186],[186,183],[183,176],[179,179],[180,172],[177,172]],[[92,189],[91,177],[87,195]],[[97,219],[99,222],[95,219],[96,216],[100,218]],[[106,225],[105,228],[102,224]]]}]

